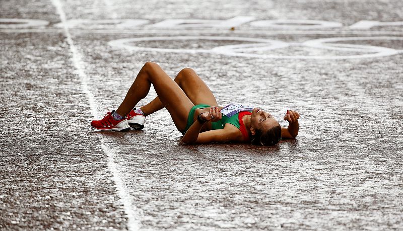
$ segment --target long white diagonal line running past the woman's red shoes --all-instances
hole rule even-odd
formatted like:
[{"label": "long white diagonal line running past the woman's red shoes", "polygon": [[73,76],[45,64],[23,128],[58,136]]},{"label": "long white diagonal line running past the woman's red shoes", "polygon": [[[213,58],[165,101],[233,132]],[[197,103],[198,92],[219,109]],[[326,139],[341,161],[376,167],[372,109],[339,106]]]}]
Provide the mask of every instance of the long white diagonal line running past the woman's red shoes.
[{"label": "long white diagonal line running past the woman's red shoes", "polygon": [[[59,0],[52,0],[53,5],[56,7],[57,14],[60,17],[60,21],[63,25],[64,34],[66,36],[66,41],[69,44],[70,51],[72,52],[72,61],[74,67],[76,68],[77,74],[81,79],[81,88],[82,91],[87,95],[88,102],[91,108],[91,113],[93,117],[97,117],[96,104],[94,95],[89,90],[88,83],[90,82],[90,78],[85,73],[85,63],[81,57],[80,52],[77,50],[74,42],[72,40],[72,36],[69,32],[69,29],[66,25],[65,14],[62,9],[62,5]],[[120,173],[118,170],[118,165],[114,162],[113,157],[115,156],[116,151],[113,148],[107,146],[107,140],[105,140],[102,136],[100,136],[100,144],[99,146],[102,148],[103,152],[108,156],[108,168],[112,173],[112,179],[115,182],[116,191],[118,196],[120,197],[120,201],[123,204],[124,212],[127,215],[127,227],[129,230],[138,230],[139,229],[139,214],[133,210],[133,202],[130,198],[129,193],[127,192],[124,183],[121,180]]]}]

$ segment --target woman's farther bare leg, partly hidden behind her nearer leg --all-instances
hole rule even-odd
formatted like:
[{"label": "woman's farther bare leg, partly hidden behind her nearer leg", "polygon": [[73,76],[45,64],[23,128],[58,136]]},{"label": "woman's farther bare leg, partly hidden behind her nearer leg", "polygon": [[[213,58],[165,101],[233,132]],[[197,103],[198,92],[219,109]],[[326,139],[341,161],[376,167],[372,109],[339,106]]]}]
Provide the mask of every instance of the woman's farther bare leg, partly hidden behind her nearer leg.
[{"label": "woman's farther bare leg, partly hidden behind her nearer leg", "polygon": [[[184,68],[176,75],[174,82],[183,90],[186,96],[194,104],[208,104],[211,106],[218,106],[216,98],[209,89],[209,87],[200,79],[196,72],[191,68]],[[150,115],[158,110],[164,108],[159,97],[144,105],[140,109]]]}]

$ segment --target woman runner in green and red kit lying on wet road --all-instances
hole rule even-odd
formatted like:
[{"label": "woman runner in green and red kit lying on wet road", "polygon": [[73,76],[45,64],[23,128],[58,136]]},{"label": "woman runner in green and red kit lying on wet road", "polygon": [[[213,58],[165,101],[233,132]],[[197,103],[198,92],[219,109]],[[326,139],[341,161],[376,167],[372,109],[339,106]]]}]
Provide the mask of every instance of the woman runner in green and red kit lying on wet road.
[{"label": "woman runner in green and red kit lying on wet road", "polygon": [[[133,109],[144,99],[153,84],[158,97],[149,104]],[[108,112],[103,119],[93,120],[91,126],[101,131],[127,131],[130,126],[143,129],[146,115],[166,108],[176,128],[184,134],[185,143],[250,142],[256,145],[274,145],[281,138],[295,138],[298,134],[296,111],[287,110],[279,122],[260,108],[242,104],[219,107],[209,87],[190,68],[182,69],[172,80],[154,62],[146,62],[120,106]]]}]

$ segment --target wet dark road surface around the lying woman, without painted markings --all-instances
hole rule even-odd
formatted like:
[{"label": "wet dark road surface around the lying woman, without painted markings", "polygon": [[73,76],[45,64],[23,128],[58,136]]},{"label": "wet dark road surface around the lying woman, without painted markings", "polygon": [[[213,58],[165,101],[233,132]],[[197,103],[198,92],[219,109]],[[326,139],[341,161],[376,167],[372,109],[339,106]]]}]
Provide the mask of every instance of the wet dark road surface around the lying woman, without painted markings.
[{"label": "wet dark road surface around the lying woman, without painted markings", "polygon": [[[125,50],[123,38],[231,36],[296,43],[318,38],[388,36],[340,43],[403,49],[402,26],[348,28],[360,20],[403,21],[400,1],[61,1],[66,19],[147,19],[134,29],[69,28],[82,57],[83,89],[51,1],[2,1],[0,18],[42,27],[0,28],[0,229],[271,230],[403,227],[403,53],[353,59],[278,59],[217,53]],[[166,19],[334,21],[342,28],[155,29]],[[1,23],[0,25],[6,25]],[[149,25],[149,26],[147,26]],[[210,49],[233,40],[143,41],[131,45]],[[280,55],[355,55],[291,46]],[[166,110],[143,131],[97,132],[146,61],[172,76],[192,67],[220,105],[260,106],[281,120],[300,112],[295,140],[275,147],[185,145]],[[156,94],[142,100],[143,105]],[[286,122],[280,121],[285,126]],[[107,147],[107,148],[105,148]],[[116,168],[113,168],[115,166]],[[117,178],[116,178],[117,176]],[[118,179],[118,180],[116,180]],[[118,181],[122,182],[119,187]]]}]

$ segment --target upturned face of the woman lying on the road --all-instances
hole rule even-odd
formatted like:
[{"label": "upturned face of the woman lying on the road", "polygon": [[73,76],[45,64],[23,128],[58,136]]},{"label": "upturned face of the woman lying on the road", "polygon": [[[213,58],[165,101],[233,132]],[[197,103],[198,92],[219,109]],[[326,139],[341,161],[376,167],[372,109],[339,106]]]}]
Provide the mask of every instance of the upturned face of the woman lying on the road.
[{"label": "upturned face of the woman lying on the road", "polygon": [[255,130],[268,130],[274,126],[278,126],[279,122],[268,112],[261,110],[260,108],[253,108],[251,117],[250,132],[255,134]]}]

